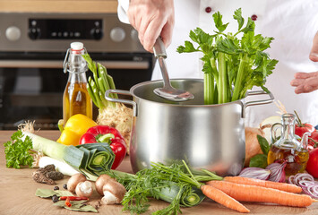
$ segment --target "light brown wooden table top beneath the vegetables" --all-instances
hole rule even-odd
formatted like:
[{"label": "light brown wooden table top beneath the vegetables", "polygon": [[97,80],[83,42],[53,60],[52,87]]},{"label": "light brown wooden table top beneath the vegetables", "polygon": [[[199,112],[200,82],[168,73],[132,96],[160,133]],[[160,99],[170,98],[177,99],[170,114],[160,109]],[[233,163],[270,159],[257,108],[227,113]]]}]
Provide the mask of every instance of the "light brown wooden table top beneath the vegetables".
[{"label": "light brown wooden table top beneath the vegetables", "polygon": [[[77,212],[69,211],[63,208],[56,207],[50,199],[42,199],[35,195],[38,188],[53,189],[54,185],[39,184],[33,181],[31,174],[35,169],[32,168],[6,168],[4,158],[4,142],[10,140],[14,131],[0,131],[0,214],[7,215],[19,215],[19,214],[94,214],[91,212]],[[58,131],[40,131],[40,136],[56,140],[59,136]],[[127,156],[124,162],[119,166],[118,170],[125,172],[132,172],[130,166],[129,156]],[[56,181],[56,184],[63,189],[63,185],[67,182],[68,177],[60,181]],[[90,198],[91,201],[100,200],[100,196],[96,191]],[[163,209],[168,206],[167,202],[163,201],[150,201],[150,211],[144,214],[150,214],[150,212]],[[244,202],[251,212],[250,214],[304,214],[304,215],[316,215],[318,214],[318,202],[314,202],[307,208],[294,208],[285,207],[272,204],[261,203],[249,203]],[[211,200],[204,200],[200,205],[191,208],[182,208],[182,214],[240,214],[236,211],[229,210],[219,203]],[[129,212],[122,211],[122,205],[101,205],[99,208],[100,214],[130,214]]]}]

